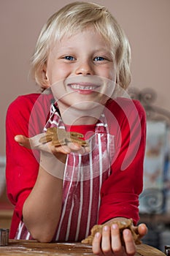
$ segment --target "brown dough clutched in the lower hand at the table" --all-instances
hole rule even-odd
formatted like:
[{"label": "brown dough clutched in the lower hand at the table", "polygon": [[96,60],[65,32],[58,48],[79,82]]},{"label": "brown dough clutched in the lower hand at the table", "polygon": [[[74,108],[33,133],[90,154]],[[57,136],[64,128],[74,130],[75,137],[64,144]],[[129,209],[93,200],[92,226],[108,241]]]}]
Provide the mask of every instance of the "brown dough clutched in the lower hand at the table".
[{"label": "brown dough clutched in the lower hand at the table", "polygon": [[[129,230],[131,230],[132,236],[134,238],[134,242],[135,244],[142,244],[142,242],[139,240],[139,235],[137,235],[134,232],[133,229],[133,221],[132,219],[126,219],[125,221],[112,221],[109,223],[109,226],[112,226],[113,224],[117,224],[120,230],[120,240],[122,242],[122,245],[124,245],[124,240],[123,240],[123,230],[125,228],[128,228]],[[102,233],[102,229],[103,229],[104,225],[94,225],[91,229],[91,233],[90,236],[88,236],[87,238],[85,238],[84,240],[82,240],[82,244],[90,244],[92,245],[93,243],[93,238],[95,236],[95,234],[97,232]]]}]

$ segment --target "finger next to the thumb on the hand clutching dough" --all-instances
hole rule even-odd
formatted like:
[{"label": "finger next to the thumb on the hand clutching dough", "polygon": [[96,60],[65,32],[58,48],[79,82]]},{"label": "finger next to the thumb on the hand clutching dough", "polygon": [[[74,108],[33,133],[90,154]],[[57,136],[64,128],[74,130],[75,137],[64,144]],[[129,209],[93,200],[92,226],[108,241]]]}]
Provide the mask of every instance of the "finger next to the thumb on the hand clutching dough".
[{"label": "finger next to the thumb on the hand clutching dough", "polygon": [[123,239],[125,241],[125,251],[127,255],[135,255],[136,245],[132,236],[131,230],[123,230]]}]

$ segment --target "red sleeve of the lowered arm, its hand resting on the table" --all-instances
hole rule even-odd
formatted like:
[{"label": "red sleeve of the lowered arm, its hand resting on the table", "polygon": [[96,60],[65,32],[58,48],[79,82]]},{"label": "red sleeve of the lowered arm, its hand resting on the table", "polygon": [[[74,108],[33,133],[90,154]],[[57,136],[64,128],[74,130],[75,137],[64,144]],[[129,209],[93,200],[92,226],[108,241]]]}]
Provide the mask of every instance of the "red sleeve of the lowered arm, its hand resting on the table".
[{"label": "red sleeve of the lowered arm, its hand resting on the table", "polygon": [[137,101],[117,101],[112,104],[117,124],[109,124],[115,135],[115,159],[112,173],[101,187],[101,207],[98,223],[115,217],[139,221],[139,194],[143,186],[143,160],[146,137],[146,117]]}]

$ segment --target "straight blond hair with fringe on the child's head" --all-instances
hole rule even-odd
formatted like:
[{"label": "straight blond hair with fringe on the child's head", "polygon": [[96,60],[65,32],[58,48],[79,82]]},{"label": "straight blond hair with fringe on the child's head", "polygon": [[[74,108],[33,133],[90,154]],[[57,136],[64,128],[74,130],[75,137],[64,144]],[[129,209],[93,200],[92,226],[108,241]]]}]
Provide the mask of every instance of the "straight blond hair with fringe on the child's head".
[{"label": "straight blond hair with fringe on the child's head", "polygon": [[31,72],[42,89],[42,69],[47,63],[50,45],[63,36],[72,36],[77,31],[93,27],[109,42],[117,67],[117,83],[126,89],[131,82],[131,49],[124,31],[117,20],[98,4],[75,1],[55,12],[42,27],[31,59]]}]

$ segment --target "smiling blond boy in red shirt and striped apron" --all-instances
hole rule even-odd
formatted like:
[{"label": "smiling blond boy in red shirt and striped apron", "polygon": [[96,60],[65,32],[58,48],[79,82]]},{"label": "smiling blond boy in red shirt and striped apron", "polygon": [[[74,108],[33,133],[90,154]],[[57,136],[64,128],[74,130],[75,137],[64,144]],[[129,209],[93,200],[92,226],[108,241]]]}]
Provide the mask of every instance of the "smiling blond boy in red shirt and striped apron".
[{"label": "smiling blond boy in red shirt and striped apron", "polygon": [[[131,232],[124,230],[124,247],[117,225],[107,225],[139,220],[145,115],[139,102],[119,97],[131,81],[129,64],[128,39],[98,4],[68,4],[42,28],[32,71],[43,93],[18,97],[7,113],[11,238],[81,241],[98,222],[106,225],[93,240],[96,255],[135,254]],[[57,146],[41,143],[52,127],[70,139],[58,133]]]}]

